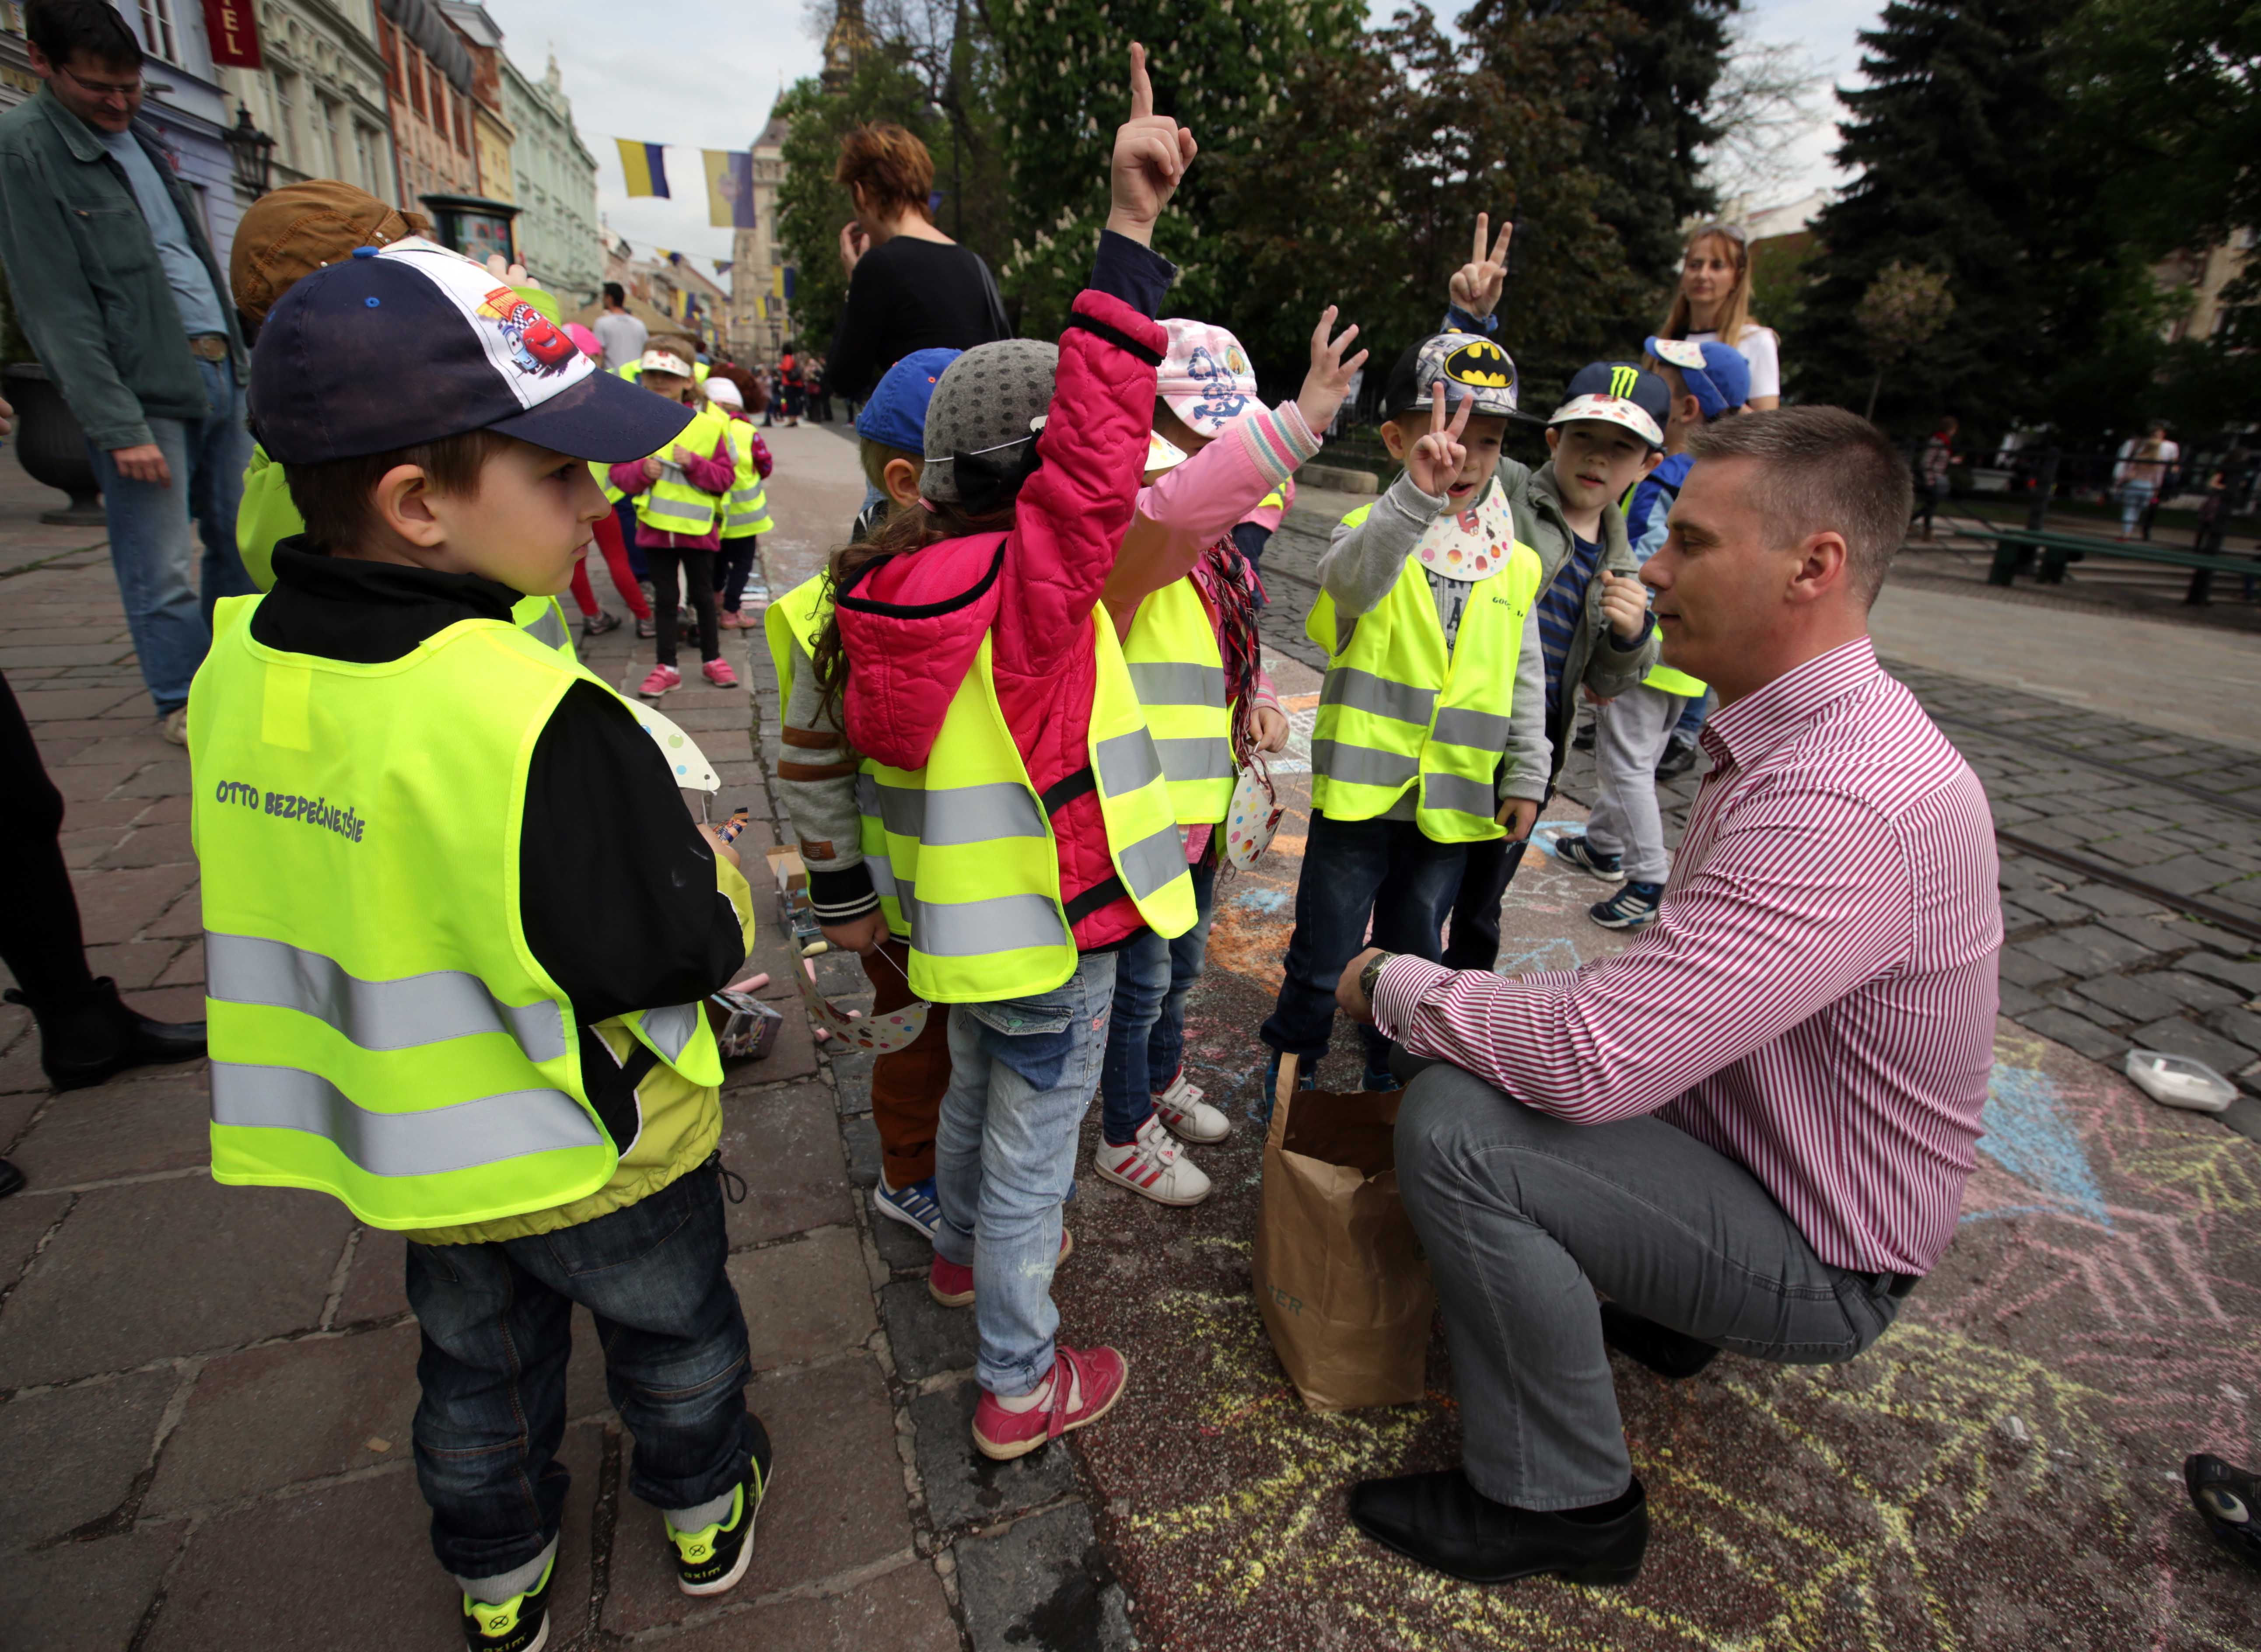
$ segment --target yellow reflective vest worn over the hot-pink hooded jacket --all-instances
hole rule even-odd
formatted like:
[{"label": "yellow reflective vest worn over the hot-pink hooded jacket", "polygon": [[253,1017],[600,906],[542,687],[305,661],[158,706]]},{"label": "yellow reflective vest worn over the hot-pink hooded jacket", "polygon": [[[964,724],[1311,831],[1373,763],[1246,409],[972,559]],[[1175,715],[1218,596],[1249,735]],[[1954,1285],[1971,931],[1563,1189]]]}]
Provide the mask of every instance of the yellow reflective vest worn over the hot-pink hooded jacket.
[{"label": "yellow reflective vest worn over the hot-pink hooded jacket", "polygon": [[[1097,689],[1088,753],[1108,857],[1140,915],[1164,938],[1194,927],[1185,843],[1162,759],[1115,646],[1092,621]],[[911,990],[934,1003],[1049,992],[1076,967],[1051,820],[997,707],[990,640],[950,698],[925,768],[864,759],[857,775],[864,866],[880,911],[911,942]]]}]

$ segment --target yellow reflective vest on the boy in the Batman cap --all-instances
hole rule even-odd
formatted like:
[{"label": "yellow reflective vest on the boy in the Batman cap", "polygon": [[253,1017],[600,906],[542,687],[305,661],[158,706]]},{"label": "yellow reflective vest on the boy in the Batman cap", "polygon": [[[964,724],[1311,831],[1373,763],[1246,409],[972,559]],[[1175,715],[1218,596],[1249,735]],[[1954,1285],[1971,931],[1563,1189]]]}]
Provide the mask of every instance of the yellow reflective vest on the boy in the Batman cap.
[{"label": "yellow reflective vest on the boy in the Batman cap", "polygon": [[1348,640],[1336,635],[1334,599],[1320,592],[1305,626],[1332,655],[1311,728],[1311,807],[1334,820],[1372,820],[1418,784],[1413,818],[1424,836],[1501,836],[1495,775],[1537,590],[1537,551],[1517,542],[1499,574],[1470,588],[1452,649],[1429,576],[1411,558]]}]

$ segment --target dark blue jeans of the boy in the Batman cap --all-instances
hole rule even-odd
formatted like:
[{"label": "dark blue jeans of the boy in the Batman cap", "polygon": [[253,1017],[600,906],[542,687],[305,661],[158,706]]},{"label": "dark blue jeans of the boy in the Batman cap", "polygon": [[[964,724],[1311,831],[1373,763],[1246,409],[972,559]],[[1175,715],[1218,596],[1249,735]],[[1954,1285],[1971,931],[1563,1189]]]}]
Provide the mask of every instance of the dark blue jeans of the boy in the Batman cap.
[{"label": "dark blue jeans of the boy in the Batman cap", "polygon": [[[1436,843],[1411,820],[1334,820],[1314,809],[1302,877],[1296,879],[1287,979],[1264,1019],[1264,1042],[1302,1058],[1302,1071],[1327,1053],[1334,985],[1366,945],[1368,918],[1375,924],[1372,945],[1436,963],[1443,956],[1438,913],[1452,906],[1465,861],[1465,843]],[[1384,884],[1391,897],[1375,899]],[[1388,1060],[1388,1040],[1370,1026],[1361,1035],[1366,1062],[1379,1071]],[[1264,1105],[1271,1105],[1268,1094]]]}]

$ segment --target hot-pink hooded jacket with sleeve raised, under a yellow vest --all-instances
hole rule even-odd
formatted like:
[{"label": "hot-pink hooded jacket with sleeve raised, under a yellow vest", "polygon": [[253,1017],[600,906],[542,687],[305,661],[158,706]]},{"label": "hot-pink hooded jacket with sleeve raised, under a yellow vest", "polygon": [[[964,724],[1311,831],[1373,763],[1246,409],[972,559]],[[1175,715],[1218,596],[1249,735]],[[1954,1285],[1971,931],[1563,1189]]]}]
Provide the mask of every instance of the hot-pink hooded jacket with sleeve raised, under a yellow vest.
[{"label": "hot-pink hooded jacket with sleeve raised, under a yellow vest", "polygon": [[[927,762],[984,635],[997,705],[1036,789],[1090,764],[1092,608],[1130,527],[1169,334],[1101,292],[1078,294],[1074,314],[1099,330],[1069,323],[1060,334],[1051,416],[1036,443],[1042,463],[1020,490],[1013,529],[895,556],[839,597],[848,741],[882,764]],[[1115,875],[1099,793],[1083,791],[1051,825],[1063,899]],[[1092,951],[1142,927],[1121,895],[1085,915],[1074,938]]]}]

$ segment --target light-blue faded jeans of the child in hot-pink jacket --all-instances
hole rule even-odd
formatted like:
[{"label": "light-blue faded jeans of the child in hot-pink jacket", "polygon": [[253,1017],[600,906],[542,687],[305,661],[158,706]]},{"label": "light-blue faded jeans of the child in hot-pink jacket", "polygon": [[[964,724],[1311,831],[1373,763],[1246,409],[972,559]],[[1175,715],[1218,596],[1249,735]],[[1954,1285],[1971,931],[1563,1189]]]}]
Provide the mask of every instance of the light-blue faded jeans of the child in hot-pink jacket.
[{"label": "light-blue faded jeans of the child in hot-pink jacket", "polygon": [[1051,1270],[1076,1130],[1099,1087],[1112,951],[1088,951],[1051,992],[950,1010],[950,1089],[934,1134],[934,1250],[974,1270],[981,1388],[1006,1399],[1051,1374]]}]

